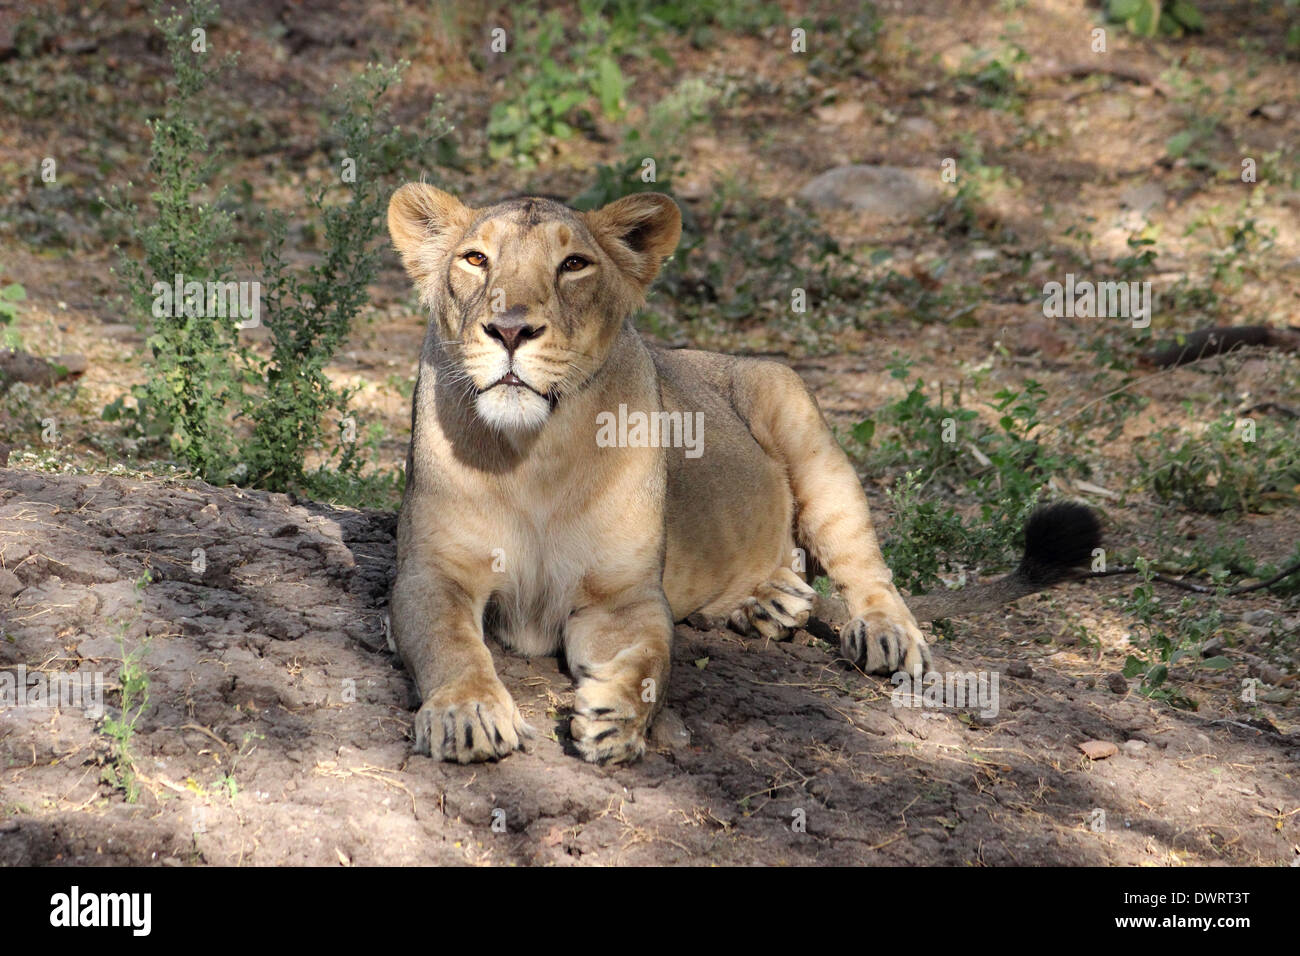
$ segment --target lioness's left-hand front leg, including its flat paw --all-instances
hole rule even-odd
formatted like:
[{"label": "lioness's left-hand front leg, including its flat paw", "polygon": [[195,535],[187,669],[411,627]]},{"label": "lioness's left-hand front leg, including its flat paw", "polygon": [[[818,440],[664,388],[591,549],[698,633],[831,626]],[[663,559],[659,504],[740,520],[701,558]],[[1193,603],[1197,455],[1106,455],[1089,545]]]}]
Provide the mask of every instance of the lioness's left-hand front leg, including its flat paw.
[{"label": "lioness's left-hand front leg, including its flat paw", "polygon": [[415,748],[460,763],[504,757],[532,730],[484,644],[484,601],[441,570],[445,557],[404,554],[393,585],[393,641],[422,701]]}]

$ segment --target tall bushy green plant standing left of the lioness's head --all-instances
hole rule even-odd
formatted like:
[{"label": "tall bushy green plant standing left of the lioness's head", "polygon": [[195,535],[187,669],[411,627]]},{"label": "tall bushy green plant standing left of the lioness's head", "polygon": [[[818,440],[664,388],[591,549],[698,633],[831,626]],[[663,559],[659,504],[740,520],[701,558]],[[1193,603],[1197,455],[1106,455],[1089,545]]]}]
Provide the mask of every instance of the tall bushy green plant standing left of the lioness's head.
[{"label": "tall bushy green plant standing left of the lioness's head", "polygon": [[[265,239],[254,295],[263,297],[257,304],[269,326],[269,356],[243,345],[234,321],[213,317],[188,295],[156,308],[159,284],[170,289],[179,276],[211,295],[207,284],[230,280],[239,261],[233,220],[222,208],[226,190],[204,198],[217,173],[217,153],[204,131],[213,109],[200,94],[217,69],[202,65],[190,36],[214,17],[211,0],[187,0],[186,13],[157,21],[178,92],[166,116],[151,124],[155,215],[146,217],[121,196],[117,203],[144,251],[139,261],[124,255],[121,272],[131,303],[153,316],[147,339],[151,375],[133,389],[133,407],[120,397],[104,418],[127,419],[140,437],[166,440],[172,454],[209,481],[272,490],[309,490],[313,481],[330,490],[356,486],[364,459],[356,423],[347,415],[351,393],[335,389],[325,369],[368,300],[387,185],[399,169],[428,155],[446,125],[433,116],[424,131],[390,124],[384,94],[400,82],[406,64],[369,65],[334,90],[326,112],[343,155],[337,176],[308,186],[306,195],[318,224],[312,226],[322,246],[318,260],[304,272],[291,269],[285,219],[257,217]],[[338,416],[334,423],[330,414]],[[235,429],[246,425],[251,436],[235,454]],[[322,463],[308,472],[313,454]]]}]

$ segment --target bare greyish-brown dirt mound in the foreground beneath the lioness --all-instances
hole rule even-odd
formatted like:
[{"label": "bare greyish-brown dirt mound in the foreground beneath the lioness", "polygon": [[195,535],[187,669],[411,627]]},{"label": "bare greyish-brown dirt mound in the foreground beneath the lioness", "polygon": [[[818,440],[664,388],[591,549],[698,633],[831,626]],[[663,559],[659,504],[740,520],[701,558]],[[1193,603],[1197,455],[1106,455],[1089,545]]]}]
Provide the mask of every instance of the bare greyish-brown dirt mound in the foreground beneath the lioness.
[{"label": "bare greyish-brown dirt mound in the foreground beneath the lioness", "polygon": [[[892,706],[889,682],[802,631],[763,644],[679,627],[666,715],[633,766],[572,756],[569,678],[555,659],[498,648],[540,731],[530,752],[468,767],[412,756],[412,685],[384,631],[393,528],[391,514],[195,481],[0,471],[0,584],[17,588],[0,666],[100,671],[114,700],[118,639],[130,650],[147,637],[150,678],[131,744],[136,804],[101,783],[96,721],[0,713],[0,864],[1296,856],[1300,735],[1173,710],[1122,682],[1115,693],[1037,643],[1054,632],[1057,596],[936,648],[939,670],[1001,674],[992,715]],[[1092,761],[1087,740],[1118,753]]]}]

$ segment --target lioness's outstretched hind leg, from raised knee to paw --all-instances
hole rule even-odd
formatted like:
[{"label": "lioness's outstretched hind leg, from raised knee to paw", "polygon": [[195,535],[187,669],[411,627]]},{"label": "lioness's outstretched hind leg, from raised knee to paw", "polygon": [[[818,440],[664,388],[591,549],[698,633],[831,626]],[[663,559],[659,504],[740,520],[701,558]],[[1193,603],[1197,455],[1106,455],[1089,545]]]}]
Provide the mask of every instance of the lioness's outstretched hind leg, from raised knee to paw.
[{"label": "lioness's outstretched hind leg, from raised knee to paw", "polygon": [[867,671],[919,675],[930,667],[930,649],[893,585],[867,497],[816,399],[789,368],[754,360],[737,363],[734,395],[754,438],[785,466],[800,542],[849,606],[844,656]]}]

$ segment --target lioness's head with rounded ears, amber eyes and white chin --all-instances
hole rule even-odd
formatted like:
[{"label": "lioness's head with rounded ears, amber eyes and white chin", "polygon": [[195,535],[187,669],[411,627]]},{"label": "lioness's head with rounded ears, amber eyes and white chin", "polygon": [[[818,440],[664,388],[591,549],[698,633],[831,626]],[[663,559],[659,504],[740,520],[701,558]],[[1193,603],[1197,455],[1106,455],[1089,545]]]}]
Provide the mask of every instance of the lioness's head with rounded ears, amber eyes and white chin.
[{"label": "lioness's head with rounded ears, amber eyes and white chin", "polygon": [[681,234],[659,194],[582,213],[549,199],[469,209],[422,183],[398,190],[389,230],[433,311],[442,375],[507,432],[541,428],[604,363]]}]

